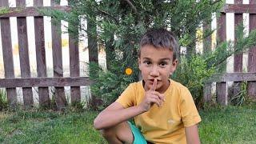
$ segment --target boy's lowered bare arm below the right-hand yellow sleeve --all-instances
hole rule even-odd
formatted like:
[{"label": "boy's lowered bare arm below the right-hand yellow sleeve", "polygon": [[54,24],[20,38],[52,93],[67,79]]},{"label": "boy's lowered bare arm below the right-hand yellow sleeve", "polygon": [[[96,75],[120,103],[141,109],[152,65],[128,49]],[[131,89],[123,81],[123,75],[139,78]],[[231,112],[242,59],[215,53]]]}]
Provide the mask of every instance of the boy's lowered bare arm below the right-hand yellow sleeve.
[{"label": "boy's lowered bare arm below the right-hand yellow sleeve", "polygon": [[198,125],[185,127],[186,143],[188,144],[200,144],[198,135]]}]

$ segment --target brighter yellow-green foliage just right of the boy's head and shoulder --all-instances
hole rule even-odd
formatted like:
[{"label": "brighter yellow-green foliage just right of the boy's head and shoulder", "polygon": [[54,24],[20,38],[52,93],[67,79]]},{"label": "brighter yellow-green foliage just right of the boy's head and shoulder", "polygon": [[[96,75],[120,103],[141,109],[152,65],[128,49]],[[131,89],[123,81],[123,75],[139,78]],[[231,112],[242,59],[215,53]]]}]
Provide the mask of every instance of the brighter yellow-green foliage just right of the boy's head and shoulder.
[{"label": "brighter yellow-green foliage just right of the boy's head and shoulder", "polygon": [[216,73],[214,66],[207,67],[206,58],[201,54],[195,54],[190,58],[181,57],[181,64],[175,71],[173,79],[185,85],[196,104],[202,106],[203,86],[206,80]]}]

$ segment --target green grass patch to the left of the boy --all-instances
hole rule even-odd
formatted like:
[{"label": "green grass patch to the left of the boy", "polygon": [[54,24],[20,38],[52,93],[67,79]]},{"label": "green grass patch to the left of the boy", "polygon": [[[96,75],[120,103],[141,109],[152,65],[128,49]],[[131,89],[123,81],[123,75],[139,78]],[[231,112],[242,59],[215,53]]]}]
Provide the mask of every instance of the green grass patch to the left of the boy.
[{"label": "green grass patch to the left of the boy", "polygon": [[106,143],[93,128],[96,112],[0,114],[0,143]]}]

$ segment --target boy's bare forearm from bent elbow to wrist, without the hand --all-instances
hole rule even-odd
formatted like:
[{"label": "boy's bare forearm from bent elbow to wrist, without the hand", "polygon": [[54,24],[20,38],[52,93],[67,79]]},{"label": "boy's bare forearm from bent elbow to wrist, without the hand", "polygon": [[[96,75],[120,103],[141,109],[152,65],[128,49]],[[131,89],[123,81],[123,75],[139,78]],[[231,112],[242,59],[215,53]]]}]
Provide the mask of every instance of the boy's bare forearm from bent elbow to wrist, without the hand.
[{"label": "boy's bare forearm from bent elbow to wrist, without the hand", "polygon": [[115,126],[118,123],[125,122],[130,118],[134,118],[135,116],[144,113],[139,106],[132,106],[126,109],[119,110],[103,110],[98,117],[94,120],[94,127],[97,130],[102,130],[109,128],[111,126]]}]

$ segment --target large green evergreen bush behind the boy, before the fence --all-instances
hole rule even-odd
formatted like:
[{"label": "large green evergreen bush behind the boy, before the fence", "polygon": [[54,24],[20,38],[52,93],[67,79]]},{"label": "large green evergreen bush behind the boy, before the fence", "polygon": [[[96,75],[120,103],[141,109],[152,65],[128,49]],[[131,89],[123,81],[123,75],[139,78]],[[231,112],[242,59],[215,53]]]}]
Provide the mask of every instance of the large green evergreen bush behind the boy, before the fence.
[{"label": "large green evergreen bush behind the boy, before the fence", "polygon": [[[139,39],[146,30],[158,27],[173,31],[178,36],[180,45],[187,47],[188,59],[181,59],[174,79],[189,87],[196,104],[200,104],[205,82],[215,74],[222,74],[226,58],[248,50],[256,42],[255,31],[243,38],[243,29],[238,26],[236,43],[218,43],[214,51],[195,54],[195,43],[202,41],[197,38],[196,31],[202,24],[211,22],[213,13],[219,14],[223,3],[224,1],[209,0],[76,0],[70,1],[69,13],[56,10],[45,10],[43,13],[53,20],[69,22],[71,35],[92,34],[99,44],[105,46],[107,70],[90,64],[90,78],[94,81],[92,94],[102,99],[102,106],[99,108],[114,102],[130,82],[138,81]],[[84,29],[84,19],[93,23],[97,31]],[[209,34],[212,32],[208,31]],[[204,34],[203,37],[209,34]],[[134,73],[126,75],[126,67],[131,67]]]}]

